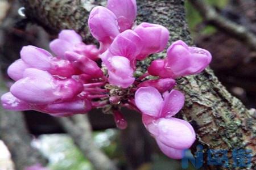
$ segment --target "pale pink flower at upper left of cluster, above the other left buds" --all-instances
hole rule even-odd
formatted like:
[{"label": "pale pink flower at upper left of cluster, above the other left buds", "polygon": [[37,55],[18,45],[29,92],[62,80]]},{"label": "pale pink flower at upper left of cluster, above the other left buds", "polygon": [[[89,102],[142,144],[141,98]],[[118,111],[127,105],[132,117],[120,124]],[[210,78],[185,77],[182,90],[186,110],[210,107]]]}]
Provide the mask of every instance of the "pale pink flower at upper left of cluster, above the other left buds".
[{"label": "pale pink flower at upper left of cluster, above the other left buds", "polygon": [[93,60],[97,60],[100,54],[95,45],[84,44],[82,37],[70,29],[61,31],[58,39],[53,40],[49,46],[52,52],[62,59],[67,58],[66,52],[75,52]]}]

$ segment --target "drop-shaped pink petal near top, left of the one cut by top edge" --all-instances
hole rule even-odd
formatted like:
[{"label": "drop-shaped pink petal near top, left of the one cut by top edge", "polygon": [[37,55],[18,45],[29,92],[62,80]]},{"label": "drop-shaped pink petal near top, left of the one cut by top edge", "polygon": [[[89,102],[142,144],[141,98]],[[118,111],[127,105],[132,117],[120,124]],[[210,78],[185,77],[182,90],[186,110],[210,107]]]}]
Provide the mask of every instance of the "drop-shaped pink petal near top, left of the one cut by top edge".
[{"label": "drop-shaped pink petal near top, left of the one cut by top edge", "polygon": [[119,34],[116,16],[108,8],[97,6],[90,12],[88,23],[92,36],[101,42],[101,53],[105,52]]}]

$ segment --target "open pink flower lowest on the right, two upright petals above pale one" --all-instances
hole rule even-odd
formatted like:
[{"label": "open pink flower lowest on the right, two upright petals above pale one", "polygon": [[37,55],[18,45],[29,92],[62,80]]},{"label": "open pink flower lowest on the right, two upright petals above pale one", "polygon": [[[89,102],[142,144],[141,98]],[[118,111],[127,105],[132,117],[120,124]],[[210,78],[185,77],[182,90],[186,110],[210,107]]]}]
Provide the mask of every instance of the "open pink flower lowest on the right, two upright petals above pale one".
[{"label": "open pink flower lowest on the right, two upright petals above pale one", "polygon": [[135,104],[143,114],[144,125],[164,154],[174,159],[182,158],[182,150],[191,147],[195,141],[192,126],[172,117],[183,107],[184,95],[172,90],[163,99],[156,88],[141,87],[135,93]]}]

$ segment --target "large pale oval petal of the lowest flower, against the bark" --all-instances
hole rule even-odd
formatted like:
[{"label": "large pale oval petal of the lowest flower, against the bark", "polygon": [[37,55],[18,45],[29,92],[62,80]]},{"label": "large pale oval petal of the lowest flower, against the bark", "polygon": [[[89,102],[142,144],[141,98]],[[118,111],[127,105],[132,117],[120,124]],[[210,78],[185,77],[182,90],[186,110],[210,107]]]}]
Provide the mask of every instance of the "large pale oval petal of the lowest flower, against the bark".
[{"label": "large pale oval petal of the lowest flower, against the bark", "polygon": [[164,145],[183,150],[195,142],[195,131],[187,121],[173,117],[159,118],[154,126],[159,130],[155,137]]}]

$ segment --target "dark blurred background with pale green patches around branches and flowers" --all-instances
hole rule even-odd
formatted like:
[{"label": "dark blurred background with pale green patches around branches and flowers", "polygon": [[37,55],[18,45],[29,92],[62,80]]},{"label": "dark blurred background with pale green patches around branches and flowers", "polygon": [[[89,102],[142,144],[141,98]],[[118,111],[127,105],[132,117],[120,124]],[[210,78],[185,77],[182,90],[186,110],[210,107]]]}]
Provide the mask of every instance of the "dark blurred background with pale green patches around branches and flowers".
[{"label": "dark blurred background with pale green patches around branches and flowers", "polygon": [[[207,0],[218,14],[240,24],[256,34],[256,1],[254,0]],[[185,1],[187,20],[195,44],[212,53],[210,67],[221,83],[247,108],[256,105],[256,52],[239,37],[214,27],[202,17],[199,10]],[[26,20],[18,1],[0,0],[0,59],[1,86],[9,86],[11,79],[7,67],[19,58],[24,45],[35,45],[49,50],[49,36],[43,28]],[[2,110],[1,110],[2,111]],[[129,128],[118,130],[111,115],[93,111],[89,114],[92,140],[121,169],[181,169],[181,163],[168,159],[158,149],[154,139],[141,124],[139,114],[125,112]],[[0,113],[1,114],[1,113]],[[19,114],[19,113],[17,113]],[[48,160],[53,170],[93,169],[79,145],[61,121],[47,114],[25,112],[24,120],[32,138],[31,146],[37,148]],[[82,133],[82,132],[81,132]],[[28,144],[29,145],[29,144]],[[19,146],[16,146],[19,147]],[[26,158],[24,158],[26,159]],[[10,152],[0,141],[0,170],[14,169]],[[190,169],[193,169],[191,166]]]}]

